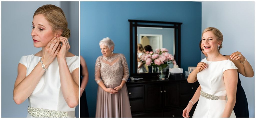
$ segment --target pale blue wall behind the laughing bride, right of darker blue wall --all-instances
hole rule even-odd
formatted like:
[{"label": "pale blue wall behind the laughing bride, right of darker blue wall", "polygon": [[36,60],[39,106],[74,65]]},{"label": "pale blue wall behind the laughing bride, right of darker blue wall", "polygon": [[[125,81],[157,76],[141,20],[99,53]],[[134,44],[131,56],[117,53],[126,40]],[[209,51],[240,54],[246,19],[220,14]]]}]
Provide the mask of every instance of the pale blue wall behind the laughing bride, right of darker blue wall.
[{"label": "pale blue wall behind the laughing bride, right of darker blue wall", "polygon": [[[207,27],[218,28],[223,34],[220,53],[241,52],[255,72],[254,5],[255,2],[202,2],[202,31]],[[239,76],[248,101],[249,117],[255,117],[255,76]]]}]

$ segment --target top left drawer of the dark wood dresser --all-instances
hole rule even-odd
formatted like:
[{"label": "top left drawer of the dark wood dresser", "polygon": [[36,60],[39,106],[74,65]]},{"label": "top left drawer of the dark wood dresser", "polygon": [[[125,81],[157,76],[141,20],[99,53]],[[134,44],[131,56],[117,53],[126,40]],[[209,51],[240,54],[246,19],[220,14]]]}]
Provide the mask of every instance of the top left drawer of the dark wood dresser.
[{"label": "top left drawer of the dark wood dresser", "polygon": [[129,98],[143,98],[143,86],[127,87]]}]

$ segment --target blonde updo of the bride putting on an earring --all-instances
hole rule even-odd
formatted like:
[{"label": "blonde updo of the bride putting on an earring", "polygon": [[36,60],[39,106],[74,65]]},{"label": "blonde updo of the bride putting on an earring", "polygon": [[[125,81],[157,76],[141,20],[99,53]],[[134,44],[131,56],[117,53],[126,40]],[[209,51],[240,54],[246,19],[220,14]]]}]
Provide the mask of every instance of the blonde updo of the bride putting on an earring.
[{"label": "blonde updo of the bride putting on an earring", "polygon": [[66,38],[70,37],[70,30],[68,29],[67,19],[60,7],[57,7],[55,5],[43,5],[36,10],[34,16],[38,14],[44,15],[44,17],[50,23],[52,31],[61,30],[61,36]]}]

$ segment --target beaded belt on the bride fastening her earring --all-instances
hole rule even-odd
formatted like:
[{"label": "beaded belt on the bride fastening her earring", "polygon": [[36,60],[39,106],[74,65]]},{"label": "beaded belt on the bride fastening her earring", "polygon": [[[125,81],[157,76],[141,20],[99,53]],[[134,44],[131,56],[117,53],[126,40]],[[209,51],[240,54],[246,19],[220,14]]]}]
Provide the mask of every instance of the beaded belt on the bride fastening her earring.
[{"label": "beaded belt on the bride fastening her earring", "polygon": [[33,107],[28,107],[28,113],[34,117],[40,118],[66,118],[68,117],[67,112],[60,112],[54,110],[38,109]]}]

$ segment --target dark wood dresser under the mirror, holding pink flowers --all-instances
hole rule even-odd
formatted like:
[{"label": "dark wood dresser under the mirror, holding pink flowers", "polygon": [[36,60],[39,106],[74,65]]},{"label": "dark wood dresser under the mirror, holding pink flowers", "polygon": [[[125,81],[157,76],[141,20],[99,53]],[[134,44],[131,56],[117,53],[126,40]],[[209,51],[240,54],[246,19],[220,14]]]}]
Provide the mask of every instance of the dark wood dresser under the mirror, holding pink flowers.
[{"label": "dark wood dresser under the mirror, holding pink flowers", "polygon": [[[183,117],[182,111],[199,83],[181,80],[144,78],[126,82],[132,117]],[[197,104],[197,103],[196,103]],[[189,115],[192,117],[196,104]]]}]

